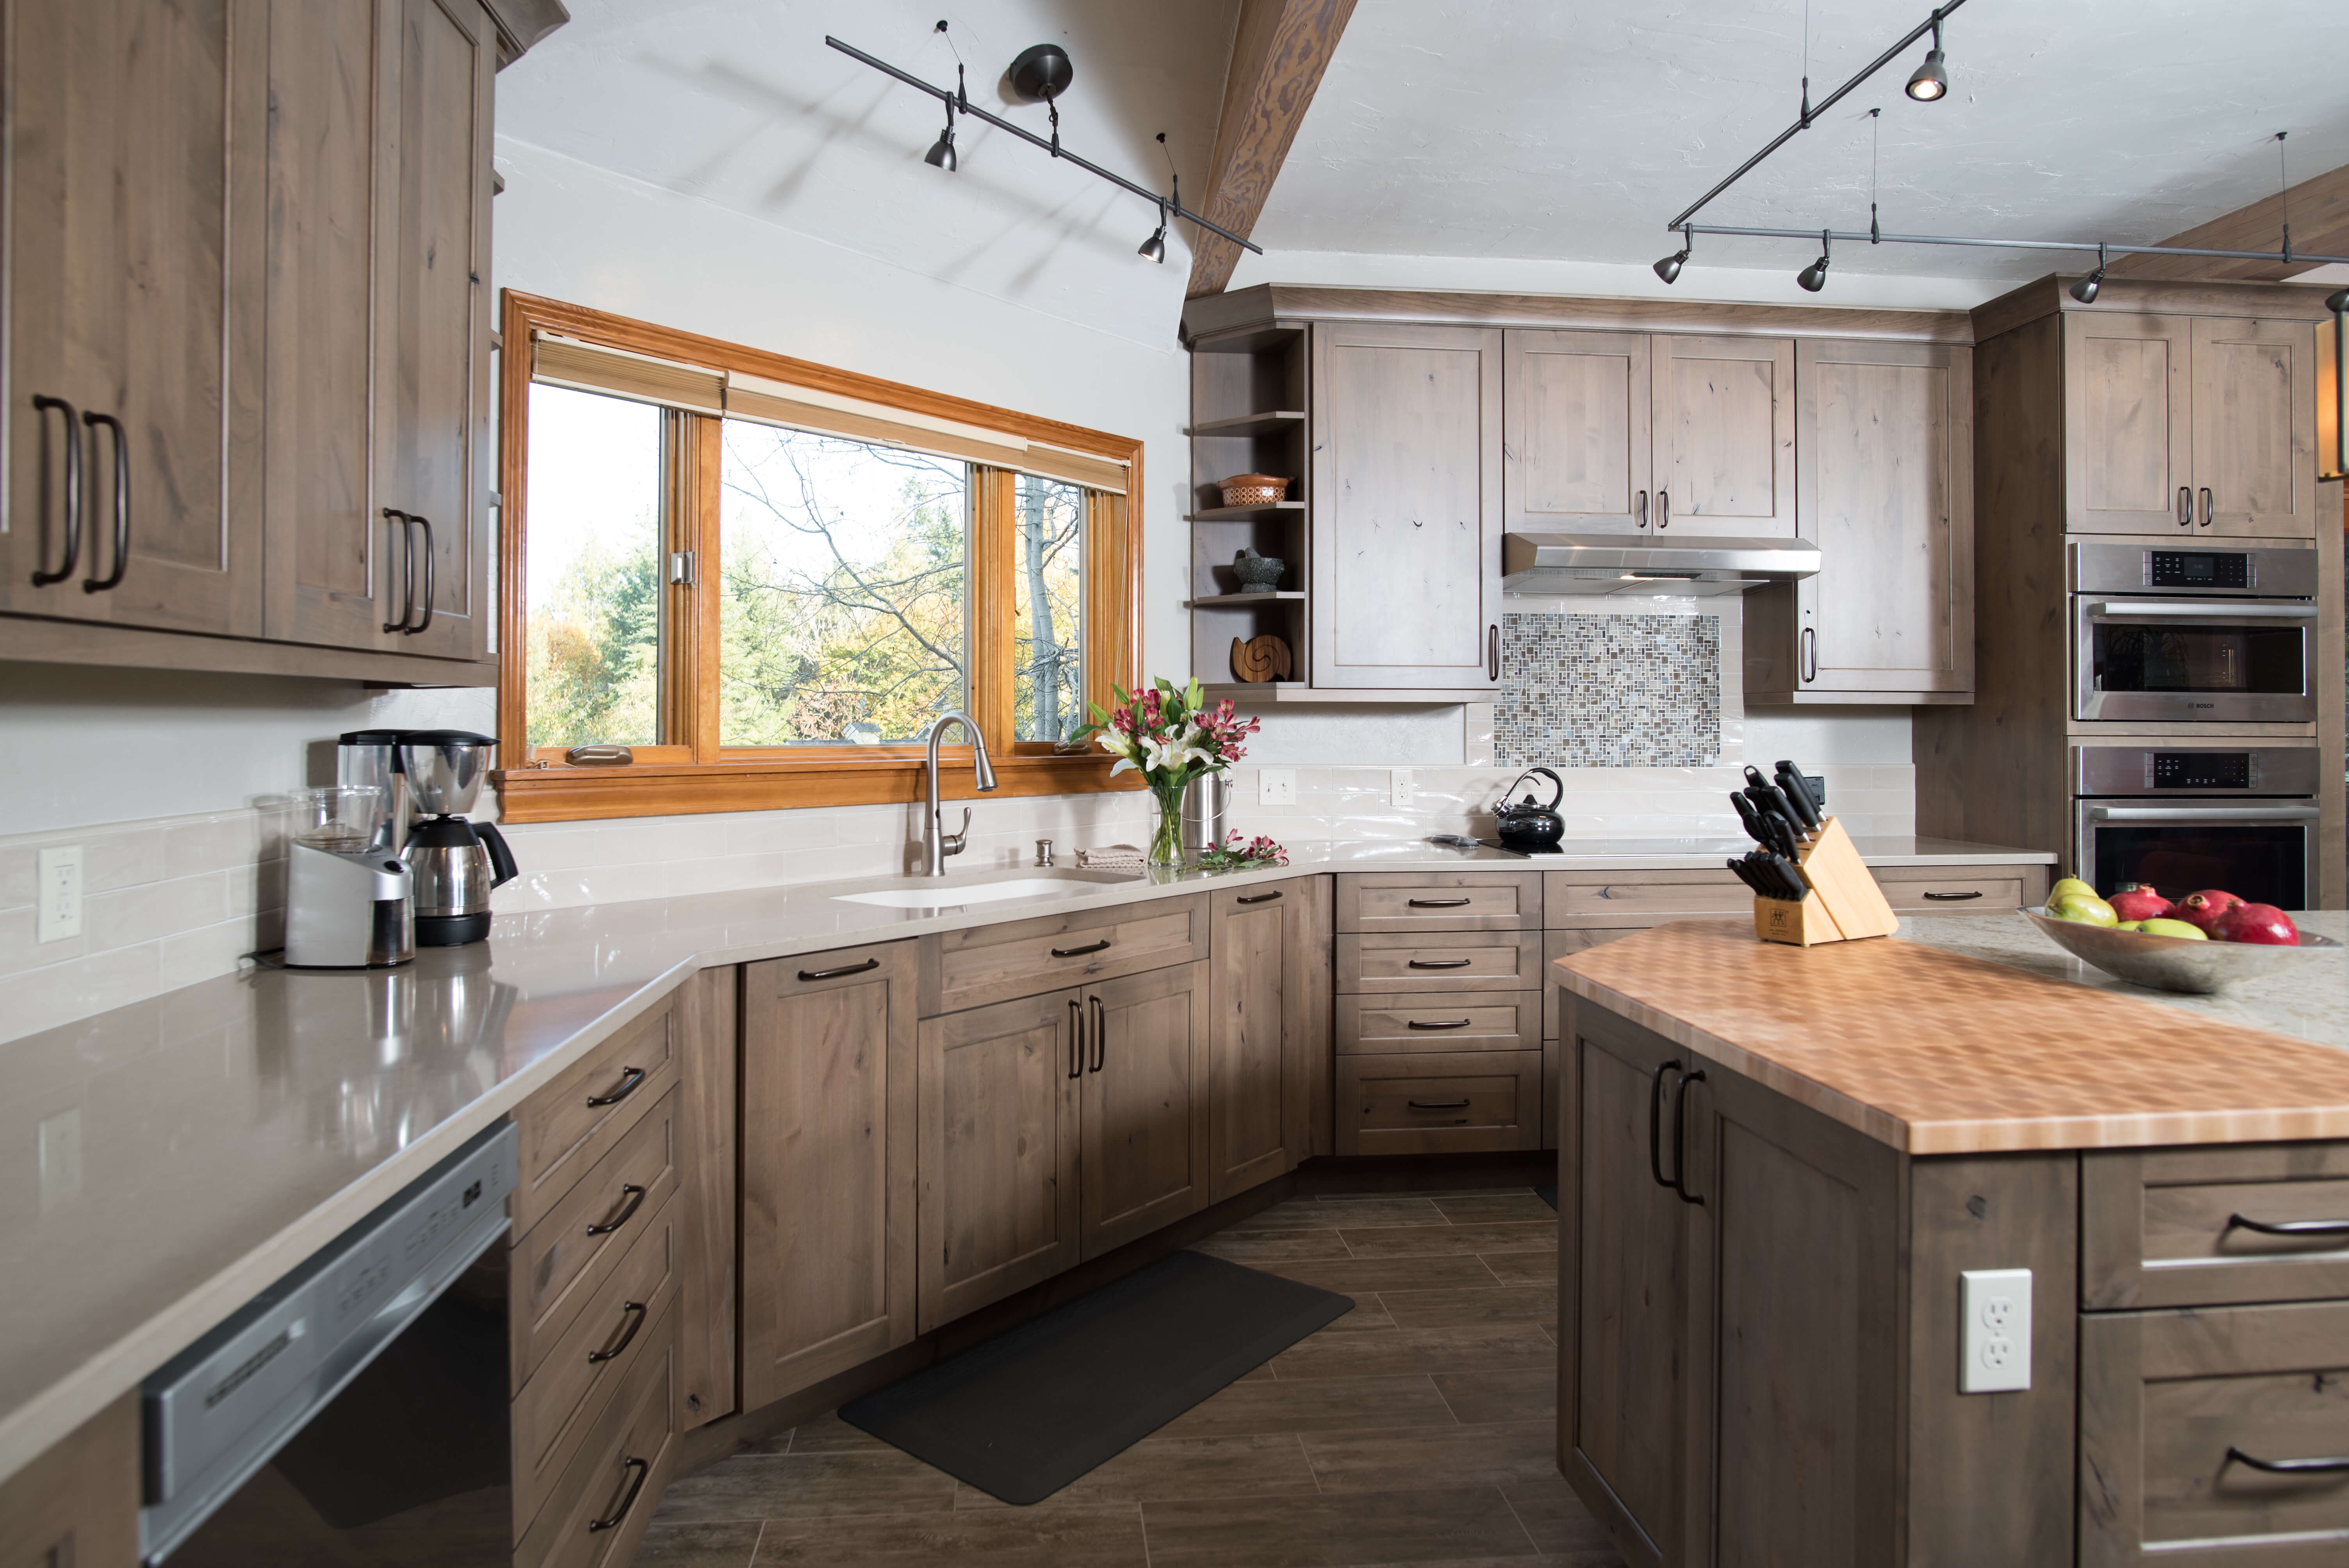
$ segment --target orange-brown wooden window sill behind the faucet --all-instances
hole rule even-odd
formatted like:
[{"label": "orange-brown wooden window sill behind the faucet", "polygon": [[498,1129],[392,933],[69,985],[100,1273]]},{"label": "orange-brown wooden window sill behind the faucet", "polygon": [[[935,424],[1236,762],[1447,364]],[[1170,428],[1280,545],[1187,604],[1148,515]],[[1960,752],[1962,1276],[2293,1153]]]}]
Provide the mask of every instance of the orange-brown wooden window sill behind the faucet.
[{"label": "orange-brown wooden window sill behind the faucet", "polygon": [[[1109,777],[1116,758],[1005,756],[996,796],[1085,796],[1142,789],[1139,775]],[[808,805],[893,805],[921,800],[918,756],[824,756],[756,763],[632,763],[627,768],[507,768],[491,775],[500,822],[587,822],[597,817],[691,817],[698,812],[780,812]],[[968,753],[940,768],[940,793],[972,800]]]}]

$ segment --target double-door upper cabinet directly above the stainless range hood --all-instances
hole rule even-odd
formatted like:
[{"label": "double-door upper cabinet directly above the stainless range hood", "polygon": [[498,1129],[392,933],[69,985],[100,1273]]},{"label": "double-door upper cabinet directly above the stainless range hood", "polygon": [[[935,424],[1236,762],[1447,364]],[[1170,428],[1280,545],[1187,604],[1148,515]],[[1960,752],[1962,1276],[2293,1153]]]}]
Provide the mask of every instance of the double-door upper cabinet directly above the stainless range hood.
[{"label": "double-door upper cabinet directly above the stainless range hood", "polygon": [[1513,530],[1792,538],[1792,340],[1503,338]]}]

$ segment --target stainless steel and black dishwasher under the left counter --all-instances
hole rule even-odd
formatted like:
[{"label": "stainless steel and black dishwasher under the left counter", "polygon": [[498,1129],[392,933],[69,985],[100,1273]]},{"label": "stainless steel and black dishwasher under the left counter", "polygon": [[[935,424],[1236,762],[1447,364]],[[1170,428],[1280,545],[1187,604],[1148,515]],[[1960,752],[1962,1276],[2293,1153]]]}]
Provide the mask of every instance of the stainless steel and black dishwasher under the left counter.
[{"label": "stainless steel and black dishwasher under the left counter", "polygon": [[146,1380],[148,1563],[512,1561],[514,1164],[484,1131]]}]

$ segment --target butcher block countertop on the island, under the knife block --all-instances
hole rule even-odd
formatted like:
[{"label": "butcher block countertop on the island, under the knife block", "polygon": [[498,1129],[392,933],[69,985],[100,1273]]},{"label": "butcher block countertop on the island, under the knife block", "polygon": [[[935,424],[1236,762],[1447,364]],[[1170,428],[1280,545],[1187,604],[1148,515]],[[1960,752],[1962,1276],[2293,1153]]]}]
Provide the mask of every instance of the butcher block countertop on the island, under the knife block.
[{"label": "butcher block countertop on the island, under the knife block", "polygon": [[[2098,972],[2062,979],[2072,960],[2020,915],[1964,920],[2013,925],[2058,962],[1936,946],[1999,951],[1950,918],[1816,948],[1708,920],[1553,969],[1576,998],[1907,1155],[2349,1138],[2340,953],[2229,995],[2168,998]],[[2342,934],[2337,913],[2307,925]],[[2274,1028],[2241,1021],[2262,1016]]]}]

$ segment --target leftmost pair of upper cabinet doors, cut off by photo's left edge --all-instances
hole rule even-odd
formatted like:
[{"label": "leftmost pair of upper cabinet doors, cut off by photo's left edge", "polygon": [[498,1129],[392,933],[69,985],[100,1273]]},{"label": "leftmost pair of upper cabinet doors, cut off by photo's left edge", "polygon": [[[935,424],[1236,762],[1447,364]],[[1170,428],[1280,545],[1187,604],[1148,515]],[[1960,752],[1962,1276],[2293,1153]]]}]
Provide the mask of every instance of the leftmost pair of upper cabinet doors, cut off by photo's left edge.
[{"label": "leftmost pair of upper cabinet doors, cut off by photo's left edge", "polygon": [[261,631],[261,514],[228,460],[251,380],[230,343],[228,127],[254,14],[9,7],[0,610]]}]

